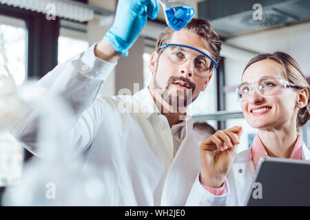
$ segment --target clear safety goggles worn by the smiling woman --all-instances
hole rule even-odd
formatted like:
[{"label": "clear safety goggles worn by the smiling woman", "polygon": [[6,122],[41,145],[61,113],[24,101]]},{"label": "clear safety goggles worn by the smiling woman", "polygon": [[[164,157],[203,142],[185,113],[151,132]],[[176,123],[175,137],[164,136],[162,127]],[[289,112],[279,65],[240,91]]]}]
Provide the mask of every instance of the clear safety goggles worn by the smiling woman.
[{"label": "clear safety goggles worn by the smiling woman", "polygon": [[254,89],[264,96],[273,96],[282,93],[283,89],[287,89],[287,87],[299,88],[297,85],[289,83],[282,78],[267,76],[260,78],[254,83],[241,83],[238,85],[236,93],[238,101],[244,102],[249,100],[249,96],[251,96]]}]

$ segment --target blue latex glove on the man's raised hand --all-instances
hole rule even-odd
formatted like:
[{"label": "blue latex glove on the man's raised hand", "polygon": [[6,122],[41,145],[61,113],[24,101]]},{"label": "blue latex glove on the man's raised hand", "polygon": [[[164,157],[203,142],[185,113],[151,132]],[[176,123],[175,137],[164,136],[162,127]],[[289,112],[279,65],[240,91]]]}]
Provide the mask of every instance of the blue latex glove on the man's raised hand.
[{"label": "blue latex glove on the man's raised hand", "polygon": [[158,0],[119,0],[114,23],[104,38],[117,52],[128,56],[128,49],[138,39],[147,17],[155,19],[158,9]]}]

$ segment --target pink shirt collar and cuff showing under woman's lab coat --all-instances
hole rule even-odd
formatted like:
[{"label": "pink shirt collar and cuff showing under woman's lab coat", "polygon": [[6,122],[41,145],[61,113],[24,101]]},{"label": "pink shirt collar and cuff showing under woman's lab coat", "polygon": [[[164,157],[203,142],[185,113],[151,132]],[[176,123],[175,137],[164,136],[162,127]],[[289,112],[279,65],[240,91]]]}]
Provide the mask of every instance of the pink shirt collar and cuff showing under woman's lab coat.
[{"label": "pink shirt collar and cuff showing under woman's lab coat", "polygon": [[[297,141],[293,148],[293,152],[291,153],[290,159],[302,159],[302,144],[303,144],[302,137],[299,133],[297,133]],[[267,155],[265,146],[260,141],[260,137],[258,137],[258,135],[254,137],[253,144],[251,145],[251,153],[255,169],[258,165],[260,157],[269,157]],[[208,186],[204,186],[203,184],[201,185],[203,186],[203,188],[211,192],[213,195],[224,195],[225,193],[228,192],[226,181],[227,180],[225,179],[225,183],[220,188],[210,188]]]}]

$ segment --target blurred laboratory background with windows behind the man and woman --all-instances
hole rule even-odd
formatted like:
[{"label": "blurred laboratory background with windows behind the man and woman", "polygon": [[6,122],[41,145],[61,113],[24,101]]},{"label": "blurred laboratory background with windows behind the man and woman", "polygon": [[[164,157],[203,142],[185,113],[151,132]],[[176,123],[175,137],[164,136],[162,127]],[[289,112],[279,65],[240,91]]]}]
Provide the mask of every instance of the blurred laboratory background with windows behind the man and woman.
[{"label": "blurred laboratory background with windows behind the man and woman", "polygon": [[[280,50],[298,61],[310,83],[310,1],[261,0],[263,19],[258,21],[253,19],[256,1],[184,1],[196,10],[194,17],[209,20],[223,41],[219,67],[190,113],[194,120],[206,121],[215,129],[243,126],[238,151],[245,150],[256,130],[245,121],[236,98],[242,71],[257,54]],[[48,3],[56,5],[56,17],[47,17],[47,10],[53,10],[46,7]],[[116,5],[117,0],[0,0],[0,72],[12,74],[17,85],[41,78],[99,42],[114,21]],[[161,8],[158,17],[147,22],[129,56],[118,61],[101,94],[114,96],[123,88],[134,92],[134,83],[139,83],[139,89],[148,85],[149,59],[165,27]],[[123,77],[126,74],[130,77]],[[310,122],[299,132],[310,146]],[[16,146],[13,153],[17,158],[25,162],[32,157],[25,149],[19,150],[18,143]],[[0,167],[4,166],[3,152],[7,150],[0,146]]]}]

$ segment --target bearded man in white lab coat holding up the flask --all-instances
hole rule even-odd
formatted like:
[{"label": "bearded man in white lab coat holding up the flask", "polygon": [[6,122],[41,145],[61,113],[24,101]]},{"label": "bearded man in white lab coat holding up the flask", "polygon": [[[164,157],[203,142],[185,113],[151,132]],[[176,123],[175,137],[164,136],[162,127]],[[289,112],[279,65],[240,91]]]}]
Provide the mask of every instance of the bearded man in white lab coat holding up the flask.
[{"label": "bearded man in white lab coat holding up the flask", "polygon": [[[195,195],[205,189],[193,188],[199,181],[199,148],[185,111],[205,90],[219,60],[220,39],[209,23],[193,19],[184,30],[167,29],[159,36],[147,89],[134,96],[97,96],[118,58],[127,56],[147,16],[154,19],[157,14],[156,0],[118,1],[114,24],[103,40],[39,81],[74,110],[76,122],[68,138],[85,163],[96,166],[108,206],[204,203]],[[14,131],[40,156],[35,133],[33,120]]]}]

